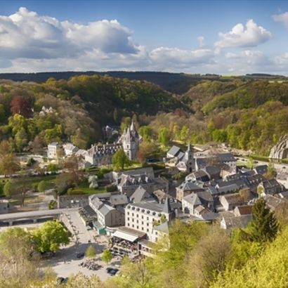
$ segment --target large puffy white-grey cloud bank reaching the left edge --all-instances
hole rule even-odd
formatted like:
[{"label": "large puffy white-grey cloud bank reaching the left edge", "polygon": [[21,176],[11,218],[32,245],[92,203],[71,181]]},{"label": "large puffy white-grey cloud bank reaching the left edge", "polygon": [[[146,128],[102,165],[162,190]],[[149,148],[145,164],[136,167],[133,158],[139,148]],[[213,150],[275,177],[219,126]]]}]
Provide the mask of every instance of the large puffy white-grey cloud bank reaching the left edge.
[{"label": "large puffy white-grey cloud bank reaching the left edge", "polygon": [[60,22],[40,16],[27,8],[10,16],[0,16],[2,58],[49,59],[74,57],[98,49],[103,53],[137,53],[132,32],[117,20],[100,20],[87,25]]}]

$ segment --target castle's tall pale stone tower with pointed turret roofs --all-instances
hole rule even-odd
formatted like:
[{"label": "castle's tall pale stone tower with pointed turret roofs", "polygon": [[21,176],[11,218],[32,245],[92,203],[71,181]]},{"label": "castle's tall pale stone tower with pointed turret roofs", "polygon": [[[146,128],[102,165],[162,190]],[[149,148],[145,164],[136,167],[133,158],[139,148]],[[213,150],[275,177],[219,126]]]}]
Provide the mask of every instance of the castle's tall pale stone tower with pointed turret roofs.
[{"label": "castle's tall pale stone tower with pointed turret roofs", "polygon": [[117,143],[122,144],[123,150],[130,160],[135,160],[141,142],[142,136],[138,134],[134,121],[132,120],[131,125],[125,129]]}]

